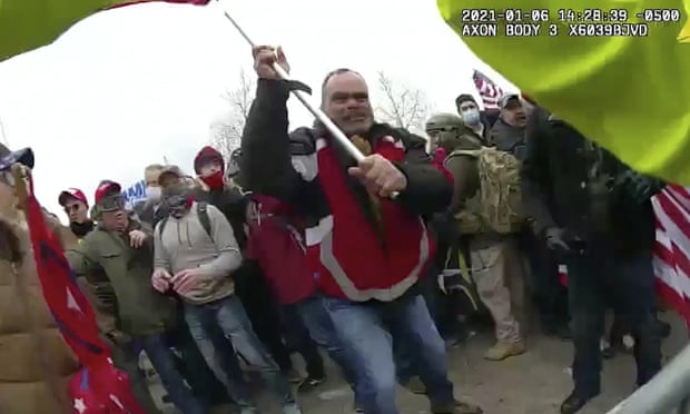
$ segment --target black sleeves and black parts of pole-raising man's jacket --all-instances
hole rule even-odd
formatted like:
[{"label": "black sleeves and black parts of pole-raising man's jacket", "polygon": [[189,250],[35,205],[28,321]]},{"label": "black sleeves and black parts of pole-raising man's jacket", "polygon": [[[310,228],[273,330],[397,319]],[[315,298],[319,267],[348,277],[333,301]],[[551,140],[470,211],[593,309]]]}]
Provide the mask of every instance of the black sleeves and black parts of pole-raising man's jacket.
[{"label": "black sleeves and black parts of pole-raising man's jacket", "polygon": [[[293,165],[298,165],[298,159],[307,161],[310,158],[315,162],[315,157],[310,157],[316,152],[315,139],[323,135],[312,128],[299,128],[288,135],[287,98],[288,88],[284,81],[259,79],[243,134],[240,167],[247,189],[289,203],[304,216],[306,224],[312,225],[328,215],[328,204],[318,179],[303,179]],[[423,216],[445,209],[453,188],[432,165],[425,140],[383,124],[374,125],[366,138],[373,142],[386,135],[402,140],[407,148],[405,160],[396,164],[407,177],[407,188],[400,194],[397,201]],[[334,148],[346,174],[355,160],[339,146],[334,145]],[[363,211],[372,217],[364,186],[347,177]]]}]

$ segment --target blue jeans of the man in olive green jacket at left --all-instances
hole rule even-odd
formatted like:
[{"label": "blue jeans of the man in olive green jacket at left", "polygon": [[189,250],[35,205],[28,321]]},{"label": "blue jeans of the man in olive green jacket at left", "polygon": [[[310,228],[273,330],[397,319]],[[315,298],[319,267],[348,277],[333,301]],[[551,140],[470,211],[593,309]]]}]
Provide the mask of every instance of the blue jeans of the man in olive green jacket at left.
[{"label": "blue jeans of the man in olive green jacket at left", "polygon": [[139,336],[137,343],[146,352],[172,404],[184,414],[204,414],[206,412],[204,405],[191,394],[183,375],[177,371],[175,357],[166,344],[165,336],[162,334]]}]

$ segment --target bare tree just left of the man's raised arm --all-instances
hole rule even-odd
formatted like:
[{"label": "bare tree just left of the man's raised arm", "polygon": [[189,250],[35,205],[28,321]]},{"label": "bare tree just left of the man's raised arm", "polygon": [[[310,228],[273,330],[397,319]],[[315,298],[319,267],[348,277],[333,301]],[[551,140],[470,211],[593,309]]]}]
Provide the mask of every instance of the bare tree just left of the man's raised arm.
[{"label": "bare tree just left of the man's raised arm", "polygon": [[210,139],[211,145],[223,154],[225,159],[228,159],[230,152],[239,147],[255,90],[256,81],[243,68],[239,71],[237,89],[227,91],[223,96],[229,103],[228,111],[210,125]]}]

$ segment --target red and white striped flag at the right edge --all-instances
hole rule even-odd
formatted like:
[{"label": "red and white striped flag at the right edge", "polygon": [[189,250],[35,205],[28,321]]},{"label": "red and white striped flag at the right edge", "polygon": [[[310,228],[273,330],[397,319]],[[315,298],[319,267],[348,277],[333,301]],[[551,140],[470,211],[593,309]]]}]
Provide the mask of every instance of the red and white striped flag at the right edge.
[{"label": "red and white striped flag at the right edge", "polygon": [[671,185],[652,198],[657,214],[654,274],[659,295],[690,326],[690,187]]}]

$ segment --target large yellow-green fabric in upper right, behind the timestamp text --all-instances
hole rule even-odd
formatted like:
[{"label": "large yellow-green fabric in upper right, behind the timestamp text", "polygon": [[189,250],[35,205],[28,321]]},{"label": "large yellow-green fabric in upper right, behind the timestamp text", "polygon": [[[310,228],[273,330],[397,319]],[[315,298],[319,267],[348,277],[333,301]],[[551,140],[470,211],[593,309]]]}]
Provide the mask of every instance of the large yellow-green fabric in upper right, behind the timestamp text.
[{"label": "large yellow-green fabric in upper right, behind the timestamp text", "polygon": [[[438,11],[462,36],[462,10],[492,8],[524,13],[549,9],[542,34],[463,37],[493,69],[568,120],[631,167],[690,185],[690,0],[437,0]],[[628,22],[644,9],[678,9],[677,23],[649,23],[647,37],[569,37],[560,8],[628,10]],[[530,22],[530,21],[528,21]],[[559,29],[549,37],[549,24]],[[682,32],[681,32],[682,29]]]}]

